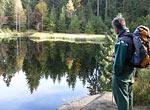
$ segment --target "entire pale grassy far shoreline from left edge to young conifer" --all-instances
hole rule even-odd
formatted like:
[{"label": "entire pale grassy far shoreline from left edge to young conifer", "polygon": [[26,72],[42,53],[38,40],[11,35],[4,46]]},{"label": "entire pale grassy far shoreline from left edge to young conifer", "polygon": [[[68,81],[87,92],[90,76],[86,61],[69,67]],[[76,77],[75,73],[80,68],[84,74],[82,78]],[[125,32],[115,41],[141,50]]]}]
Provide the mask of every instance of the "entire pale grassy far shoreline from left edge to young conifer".
[{"label": "entire pale grassy far shoreline from left edge to young conifer", "polygon": [[11,39],[27,37],[34,42],[43,41],[60,41],[70,43],[90,43],[100,44],[103,42],[105,35],[97,34],[68,34],[68,33],[48,33],[48,32],[22,32],[22,33],[0,33],[0,39]]}]

